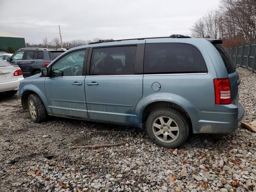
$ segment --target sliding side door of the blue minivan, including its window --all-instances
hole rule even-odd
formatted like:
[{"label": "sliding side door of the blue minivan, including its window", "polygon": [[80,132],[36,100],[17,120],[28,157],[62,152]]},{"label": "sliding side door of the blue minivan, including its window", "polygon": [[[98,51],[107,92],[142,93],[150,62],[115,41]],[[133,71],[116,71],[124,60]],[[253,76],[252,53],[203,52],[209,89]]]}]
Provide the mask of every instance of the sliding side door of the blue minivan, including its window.
[{"label": "sliding side door of the blue minivan, including its window", "polygon": [[142,98],[142,75],[134,75],[137,46],[92,49],[85,78],[90,119],[133,123],[134,108]]}]

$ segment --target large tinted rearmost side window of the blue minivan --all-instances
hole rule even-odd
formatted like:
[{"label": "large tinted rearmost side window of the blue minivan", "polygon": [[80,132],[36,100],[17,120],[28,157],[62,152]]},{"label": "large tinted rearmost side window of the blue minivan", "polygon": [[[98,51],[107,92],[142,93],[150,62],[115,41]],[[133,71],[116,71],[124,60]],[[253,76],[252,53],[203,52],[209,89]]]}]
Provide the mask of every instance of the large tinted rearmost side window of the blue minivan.
[{"label": "large tinted rearmost side window of the blue minivan", "polygon": [[204,58],[192,45],[149,43],[145,46],[144,74],[207,72]]}]

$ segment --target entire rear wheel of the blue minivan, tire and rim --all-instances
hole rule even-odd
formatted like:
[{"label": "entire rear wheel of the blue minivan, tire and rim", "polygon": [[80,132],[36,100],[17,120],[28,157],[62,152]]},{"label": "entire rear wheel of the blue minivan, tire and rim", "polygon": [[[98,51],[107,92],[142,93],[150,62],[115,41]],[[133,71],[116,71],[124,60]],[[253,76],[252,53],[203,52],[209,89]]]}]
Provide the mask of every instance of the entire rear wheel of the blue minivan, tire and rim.
[{"label": "entire rear wheel of the blue minivan, tire and rim", "polygon": [[189,124],[178,110],[160,108],[148,116],[146,130],[150,139],[157,145],[176,148],[187,140]]}]

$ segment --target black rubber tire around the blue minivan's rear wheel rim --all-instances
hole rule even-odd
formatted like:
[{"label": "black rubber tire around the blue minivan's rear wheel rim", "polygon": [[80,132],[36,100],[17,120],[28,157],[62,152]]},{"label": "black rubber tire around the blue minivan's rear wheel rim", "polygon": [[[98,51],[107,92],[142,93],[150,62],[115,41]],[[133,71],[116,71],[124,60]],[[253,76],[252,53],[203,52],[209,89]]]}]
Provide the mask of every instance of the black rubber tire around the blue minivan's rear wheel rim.
[{"label": "black rubber tire around the blue minivan's rear wheel rim", "polygon": [[[157,136],[155,136],[153,132],[153,129],[158,129],[158,128],[153,128],[153,123],[157,118],[160,118],[161,116],[171,118],[172,120],[174,120],[174,123],[178,125],[179,133],[178,131],[177,132],[174,131],[177,137],[176,139],[173,139],[172,142],[161,141],[160,139],[157,138]],[[166,126],[164,128],[167,130],[168,127]],[[148,132],[148,136],[155,144],[160,145],[162,147],[166,147],[166,148],[176,148],[184,144],[184,142],[187,140],[188,134],[189,134],[189,124],[185,116],[180,111],[172,108],[159,108],[151,112],[150,115],[148,116],[148,119],[146,120],[146,130]],[[160,131],[160,128],[159,128],[159,131]],[[162,131],[164,130],[162,129]],[[161,136],[163,136],[163,134],[159,135],[159,137]],[[172,140],[170,136],[166,136],[166,138],[167,137],[169,138],[169,140]]]}]

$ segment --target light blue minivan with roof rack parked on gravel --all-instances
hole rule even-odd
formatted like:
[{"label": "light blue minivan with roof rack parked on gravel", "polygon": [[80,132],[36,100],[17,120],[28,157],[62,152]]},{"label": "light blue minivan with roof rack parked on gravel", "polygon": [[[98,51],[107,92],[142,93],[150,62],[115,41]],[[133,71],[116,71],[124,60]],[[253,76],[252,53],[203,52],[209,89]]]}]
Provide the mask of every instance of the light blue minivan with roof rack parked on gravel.
[{"label": "light blue minivan with roof rack parked on gravel", "polygon": [[146,126],[153,142],[174,148],[189,132],[234,132],[244,116],[239,84],[222,40],[174,35],[72,48],[22,80],[19,93],[34,122]]}]

